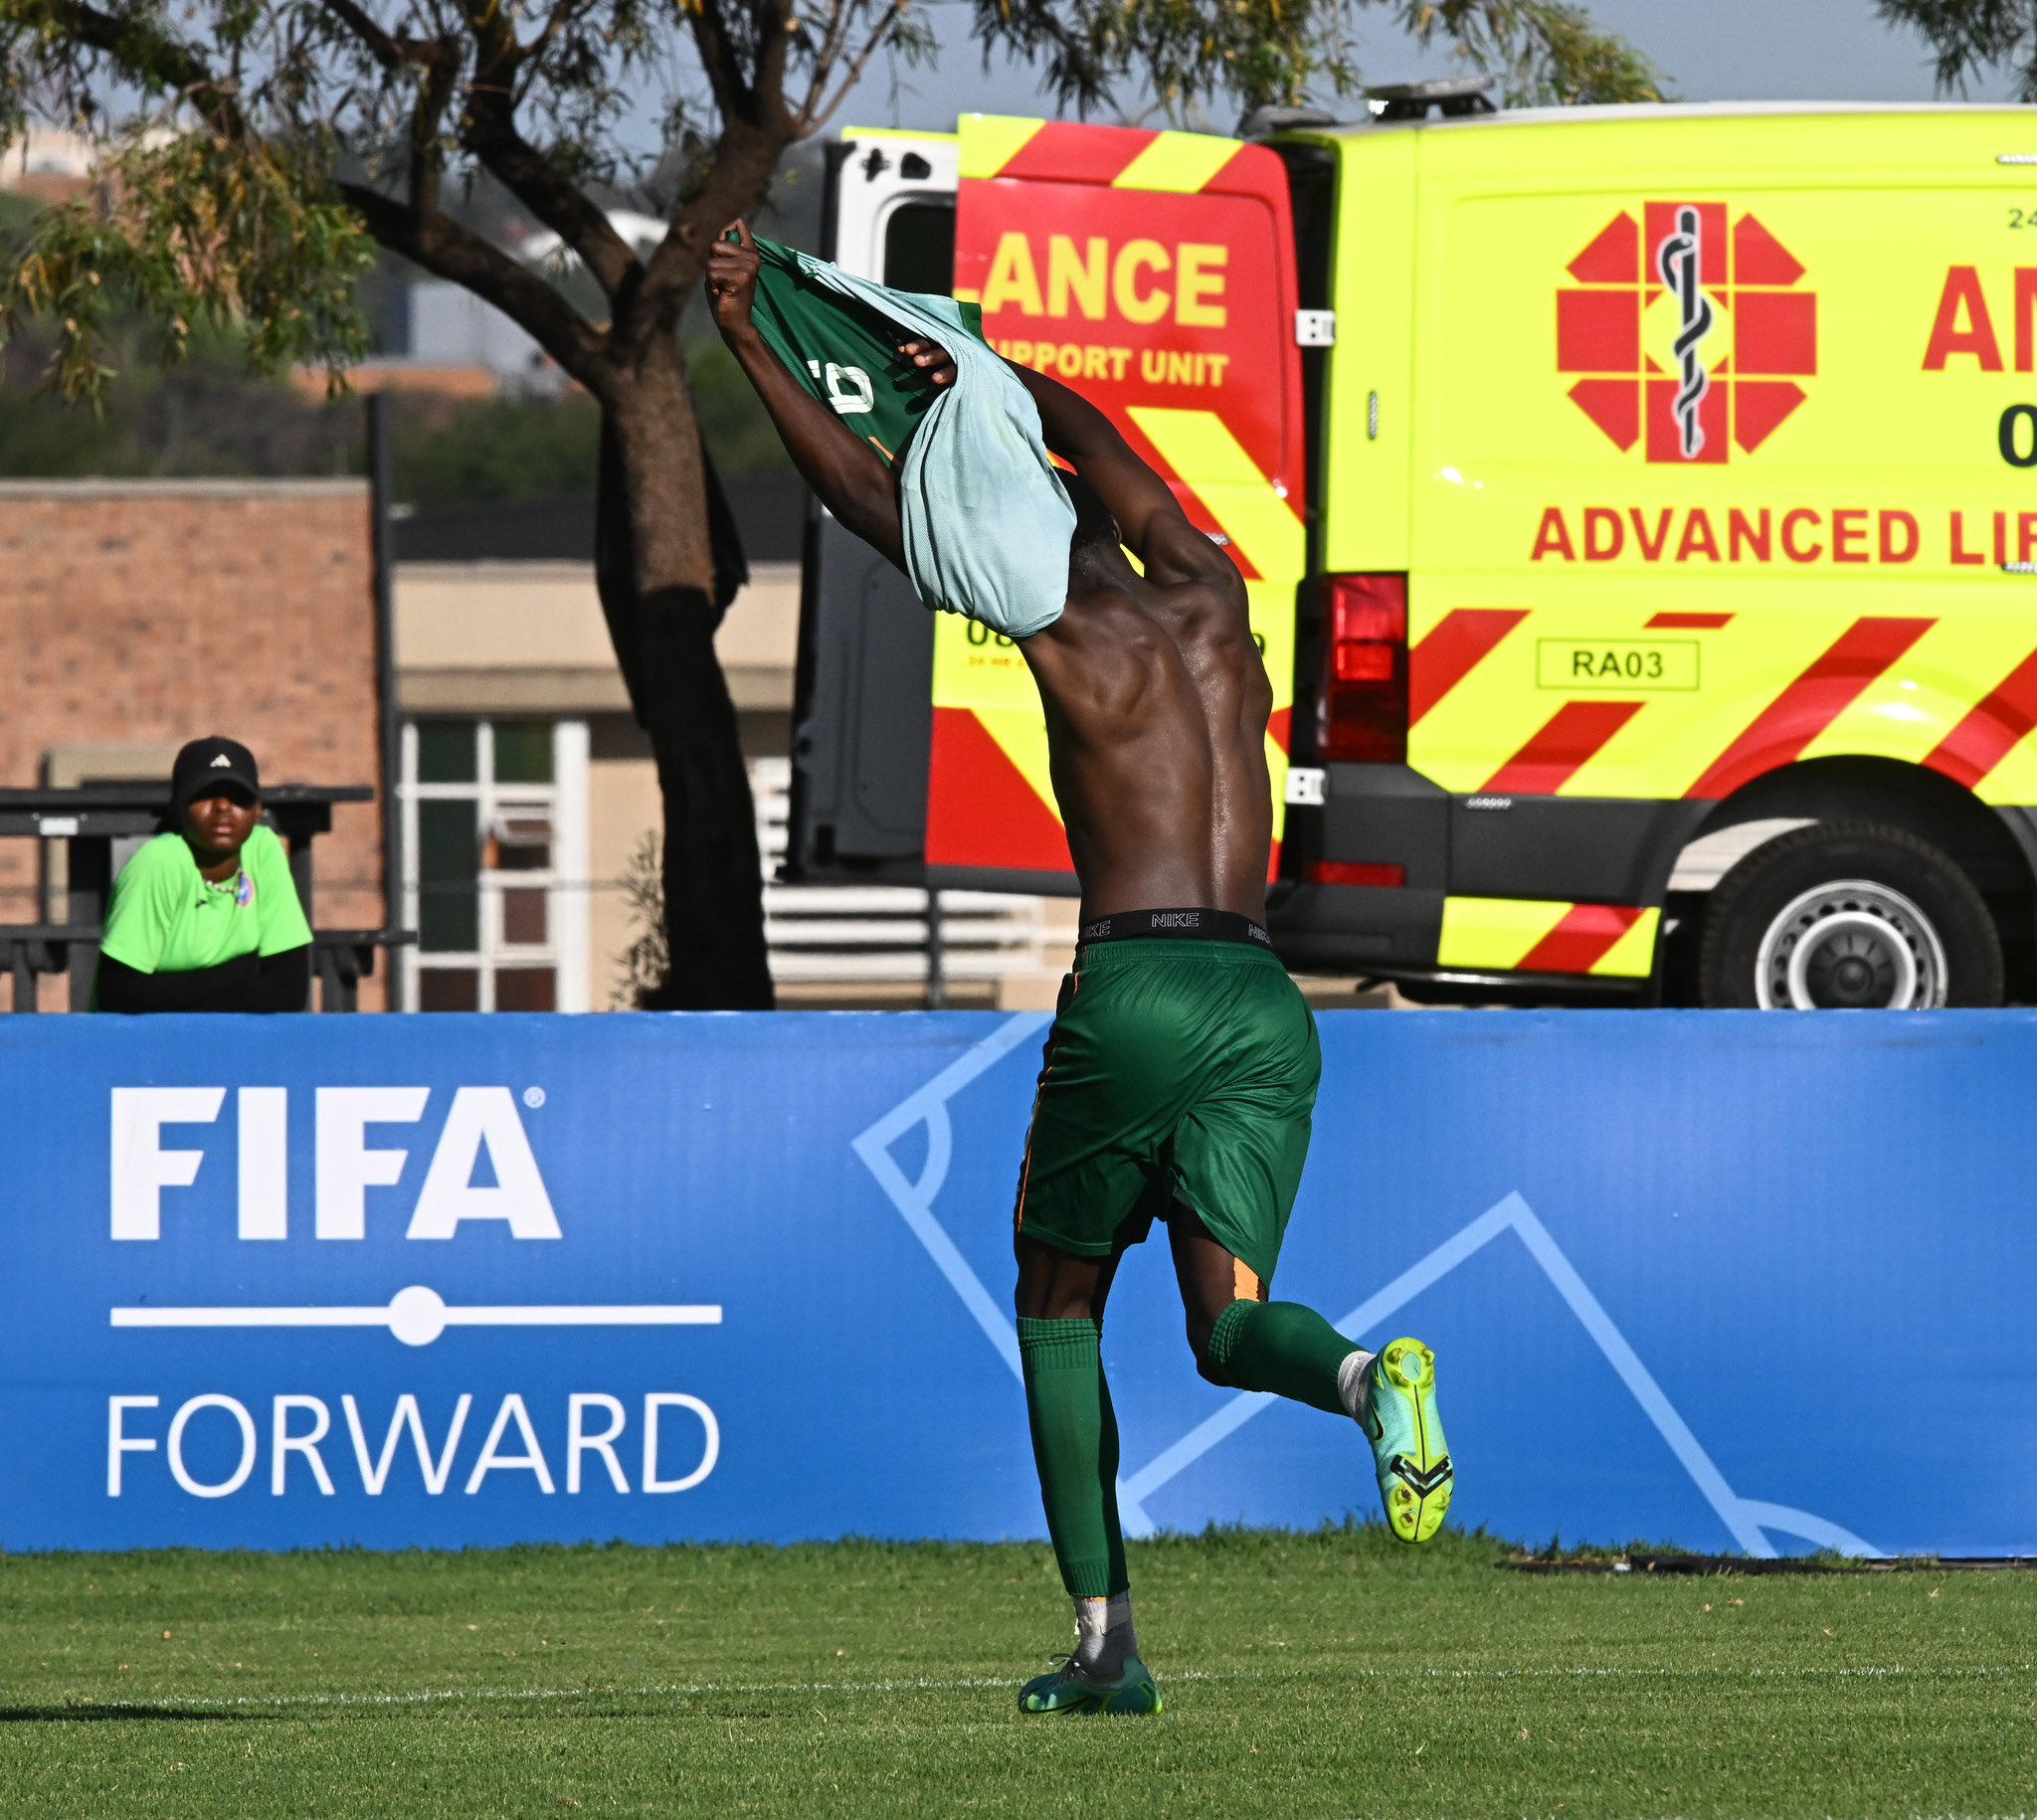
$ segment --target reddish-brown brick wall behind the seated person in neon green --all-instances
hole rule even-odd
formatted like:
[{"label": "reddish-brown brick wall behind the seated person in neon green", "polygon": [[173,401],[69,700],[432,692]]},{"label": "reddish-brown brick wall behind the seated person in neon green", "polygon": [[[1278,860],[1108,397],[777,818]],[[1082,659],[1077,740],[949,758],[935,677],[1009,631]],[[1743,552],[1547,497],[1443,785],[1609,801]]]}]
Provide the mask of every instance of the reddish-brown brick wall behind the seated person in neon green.
[{"label": "reddish-brown brick wall behind the seated person in neon green", "polygon": [[[381,926],[365,482],[0,482],[0,786],[49,782],[63,747],[202,733],[244,741],[265,782],[373,786],[312,849],[314,920]],[[39,849],[0,839],[0,922],[41,920]]]}]

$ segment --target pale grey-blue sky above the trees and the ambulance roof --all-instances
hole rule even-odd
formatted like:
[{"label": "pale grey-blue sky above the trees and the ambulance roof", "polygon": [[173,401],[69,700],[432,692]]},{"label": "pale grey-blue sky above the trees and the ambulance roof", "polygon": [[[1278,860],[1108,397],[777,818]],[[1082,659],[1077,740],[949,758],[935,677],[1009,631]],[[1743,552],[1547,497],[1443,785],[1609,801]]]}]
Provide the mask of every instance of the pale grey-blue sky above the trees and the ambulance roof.
[{"label": "pale grey-blue sky above the trees and the ambulance roof", "polygon": [[[1874,0],[1585,0],[1599,24],[1636,45],[1687,102],[1929,102],[1931,57],[1923,39],[1874,16]],[[937,67],[874,67],[835,124],[949,128],[961,112],[1037,114],[1051,104],[1035,75],[1000,63],[988,71],[968,37],[970,8],[929,8],[943,41]],[[1424,57],[1393,29],[1385,8],[1361,12],[1363,67],[1373,81],[1458,73],[1448,53]],[[2006,102],[1996,71],[1968,100]],[[1234,122],[1210,120],[1228,130]]]}]

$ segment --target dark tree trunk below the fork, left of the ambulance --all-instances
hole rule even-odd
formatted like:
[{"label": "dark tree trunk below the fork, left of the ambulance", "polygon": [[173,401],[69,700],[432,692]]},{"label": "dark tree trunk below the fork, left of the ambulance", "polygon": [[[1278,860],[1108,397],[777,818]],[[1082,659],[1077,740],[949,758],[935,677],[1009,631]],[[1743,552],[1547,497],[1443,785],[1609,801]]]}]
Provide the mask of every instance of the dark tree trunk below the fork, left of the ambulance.
[{"label": "dark tree trunk below the fork, left of the ambulance", "polygon": [[701,434],[676,336],[654,336],[603,409],[629,529],[629,586],[609,578],[603,607],[664,796],[670,967],[644,1006],[770,1010],[756,808],[715,656]]}]

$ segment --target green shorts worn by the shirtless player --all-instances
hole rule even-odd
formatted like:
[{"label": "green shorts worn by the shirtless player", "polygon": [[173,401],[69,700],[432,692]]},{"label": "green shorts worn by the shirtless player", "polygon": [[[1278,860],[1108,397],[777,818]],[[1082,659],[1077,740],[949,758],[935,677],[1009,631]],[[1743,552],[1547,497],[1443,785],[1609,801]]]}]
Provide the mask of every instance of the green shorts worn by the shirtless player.
[{"label": "green shorts worn by the shirtless player", "polygon": [[1106,1258],[1179,1201],[1271,1283],[1320,1079],[1316,1018],[1267,949],[1092,943],[1047,1034],[1016,1230]]}]

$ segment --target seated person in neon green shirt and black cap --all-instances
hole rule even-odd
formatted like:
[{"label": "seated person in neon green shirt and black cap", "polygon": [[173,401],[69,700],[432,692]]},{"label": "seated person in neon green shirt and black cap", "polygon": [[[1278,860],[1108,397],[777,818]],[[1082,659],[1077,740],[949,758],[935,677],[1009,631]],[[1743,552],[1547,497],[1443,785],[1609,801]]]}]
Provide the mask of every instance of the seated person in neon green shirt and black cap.
[{"label": "seated person in neon green shirt and black cap", "polygon": [[301,1012],[312,926],[261,822],[255,755],[218,735],[185,745],[167,822],[114,879],[94,1010]]}]

